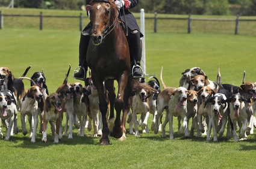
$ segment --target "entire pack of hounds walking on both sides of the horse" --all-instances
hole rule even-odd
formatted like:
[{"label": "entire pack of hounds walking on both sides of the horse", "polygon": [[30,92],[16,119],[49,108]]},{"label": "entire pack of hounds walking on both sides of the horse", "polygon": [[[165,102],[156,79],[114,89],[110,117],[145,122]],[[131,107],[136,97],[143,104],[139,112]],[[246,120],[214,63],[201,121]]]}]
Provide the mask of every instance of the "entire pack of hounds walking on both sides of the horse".
[{"label": "entire pack of hounds walking on both sides of the horse", "polygon": [[[69,65],[63,84],[56,92],[49,93],[43,70],[35,72],[31,78],[25,77],[30,68],[28,67],[22,76],[15,78],[7,67],[0,67],[0,122],[6,129],[4,137],[0,123],[0,138],[10,140],[13,133],[18,133],[18,111],[22,134],[28,134],[28,119],[33,143],[36,142],[37,131],[42,134],[42,141],[47,141],[48,123],[51,125],[54,143],[58,143],[63,135],[73,138],[73,126],[79,129],[78,135],[81,137],[84,136],[85,128],[92,130],[92,124],[93,136],[102,135],[98,93],[91,76],[86,79],[84,86],[78,82],[67,83]],[[222,84],[219,67],[216,82],[209,80],[199,67],[187,69],[182,73],[180,87],[167,87],[162,76],[163,68],[160,73],[162,90],[156,77],[150,77],[148,82],[145,82],[145,79],[133,80],[127,119],[130,134],[139,137],[139,126],[142,132],[149,132],[148,119],[151,114],[151,130],[155,134],[161,131],[162,136],[166,137],[165,128],[169,123],[170,139],[174,139],[173,116],[178,119],[178,134],[184,134],[186,138],[206,136],[207,140],[211,140],[212,130],[213,141],[217,141],[226,129],[226,138],[233,138],[234,142],[237,142],[246,140],[247,135],[253,134],[256,127],[256,83],[245,82],[245,72],[240,86]],[[30,89],[25,89],[23,79],[30,80]],[[107,90],[105,93],[108,94]],[[109,109],[110,106],[108,111]],[[162,123],[164,110],[166,115]],[[66,124],[63,132],[64,112]],[[108,123],[111,132],[113,122]]]}]

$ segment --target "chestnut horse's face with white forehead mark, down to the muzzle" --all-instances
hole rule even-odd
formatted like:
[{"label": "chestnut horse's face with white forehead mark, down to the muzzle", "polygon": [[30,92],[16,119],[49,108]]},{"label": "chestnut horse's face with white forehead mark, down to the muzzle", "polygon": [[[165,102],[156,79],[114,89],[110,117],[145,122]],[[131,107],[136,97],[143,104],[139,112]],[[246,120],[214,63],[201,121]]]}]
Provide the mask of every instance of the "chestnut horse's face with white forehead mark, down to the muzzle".
[{"label": "chestnut horse's face with white forehead mark, down to the muzzle", "polygon": [[104,31],[107,30],[110,20],[110,4],[96,3],[90,8],[90,21],[92,23],[92,43],[97,46],[102,43]]}]

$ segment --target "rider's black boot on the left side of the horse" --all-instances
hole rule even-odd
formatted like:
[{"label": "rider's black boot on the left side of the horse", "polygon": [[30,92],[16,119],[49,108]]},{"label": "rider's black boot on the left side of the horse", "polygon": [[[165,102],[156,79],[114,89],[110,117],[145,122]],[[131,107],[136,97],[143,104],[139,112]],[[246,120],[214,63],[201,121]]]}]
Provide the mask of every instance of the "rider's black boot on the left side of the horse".
[{"label": "rider's black boot on the left side of the horse", "polygon": [[89,45],[90,35],[83,35],[81,33],[80,44],[79,44],[79,66],[80,70],[74,74],[74,78],[78,80],[85,80],[88,65],[86,62],[86,52]]}]

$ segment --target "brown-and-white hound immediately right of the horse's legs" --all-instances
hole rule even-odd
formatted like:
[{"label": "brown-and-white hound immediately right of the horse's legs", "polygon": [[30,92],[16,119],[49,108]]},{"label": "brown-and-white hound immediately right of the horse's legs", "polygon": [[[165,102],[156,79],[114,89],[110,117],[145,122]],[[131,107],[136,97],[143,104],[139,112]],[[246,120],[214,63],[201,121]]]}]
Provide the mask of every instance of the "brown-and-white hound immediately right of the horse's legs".
[{"label": "brown-and-white hound immediately right of the horse's legs", "polygon": [[148,129],[148,117],[149,117],[149,96],[154,94],[154,89],[149,86],[147,83],[140,83],[134,81],[133,87],[134,96],[131,96],[131,116],[132,121],[130,122],[130,134],[133,132],[133,124],[135,136],[139,137],[139,128],[137,122],[137,114],[142,114],[142,130],[143,132],[149,132]]}]

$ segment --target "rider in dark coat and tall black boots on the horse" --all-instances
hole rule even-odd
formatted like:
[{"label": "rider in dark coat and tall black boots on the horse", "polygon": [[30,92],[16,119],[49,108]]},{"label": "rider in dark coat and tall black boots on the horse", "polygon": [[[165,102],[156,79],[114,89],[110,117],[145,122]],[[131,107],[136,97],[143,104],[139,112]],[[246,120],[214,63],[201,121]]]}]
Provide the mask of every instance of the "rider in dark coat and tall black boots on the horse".
[{"label": "rider in dark coat and tall black boots on the horse", "polygon": [[[133,77],[143,77],[144,75],[141,73],[140,70],[140,60],[142,58],[142,49],[140,45],[140,37],[143,37],[143,35],[140,33],[139,26],[136,22],[135,17],[133,14],[129,11],[130,8],[135,7],[139,0],[117,0],[114,1],[114,3],[117,5],[117,8],[120,9],[120,19],[124,22],[126,21],[126,25],[128,27],[129,36],[130,36],[130,50],[131,50],[131,58],[132,64],[136,65],[133,68]],[[123,10],[122,8],[125,8],[125,16],[123,16]],[[87,16],[90,17],[90,0],[86,0],[86,11]],[[124,18],[125,17],[125,18]],[[79,66],[81,67],[80,70],[74,74],[75,79],[84,80],[86,78],[86,72],[87,72],[87,62],[86,62],[86,52],[87,47],[89,45],[90,41],[90,33],[92,30],[92,26],[89,23],[86,28],[84,28],[83,32],[81,32],[80,37],[80,44],[79,44]],[[84,70],[83,70],[84,69]]]}]

